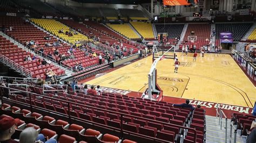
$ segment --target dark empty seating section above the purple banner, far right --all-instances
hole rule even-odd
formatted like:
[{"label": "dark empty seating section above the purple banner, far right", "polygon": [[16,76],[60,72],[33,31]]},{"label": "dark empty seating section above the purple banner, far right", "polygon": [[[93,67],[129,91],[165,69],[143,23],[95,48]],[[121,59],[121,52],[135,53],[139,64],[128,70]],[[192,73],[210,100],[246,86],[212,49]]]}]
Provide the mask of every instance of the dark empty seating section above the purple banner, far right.
[{"label": "dark empty seating section above the purple banner, far right", "polygon": [[233,40],[234,41],[240,41],[246,32],[250,29],[252,26],[252,23],[231,23],[231,24],[215,24],[216,25],[216,35],[215,38],[219,39],[220,32],[232,32],[233,34]]}]

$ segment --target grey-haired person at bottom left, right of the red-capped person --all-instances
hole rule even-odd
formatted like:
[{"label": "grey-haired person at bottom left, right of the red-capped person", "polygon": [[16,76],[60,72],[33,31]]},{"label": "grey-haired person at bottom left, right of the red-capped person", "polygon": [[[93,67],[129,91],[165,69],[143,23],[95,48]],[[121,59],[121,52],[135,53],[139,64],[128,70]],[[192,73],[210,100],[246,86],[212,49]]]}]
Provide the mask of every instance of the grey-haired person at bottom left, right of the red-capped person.
[{"label": "grey-haired person at bottom left, right of the red-capped person", "polygon": [[55,139],[45,141],[44,135],[38,134],[37,130],[33,127],[27,127],[21,132],[21,134],[19,134],[19,143],[34,143],[37,141],[42,141],[45,143],[57,143]]}]

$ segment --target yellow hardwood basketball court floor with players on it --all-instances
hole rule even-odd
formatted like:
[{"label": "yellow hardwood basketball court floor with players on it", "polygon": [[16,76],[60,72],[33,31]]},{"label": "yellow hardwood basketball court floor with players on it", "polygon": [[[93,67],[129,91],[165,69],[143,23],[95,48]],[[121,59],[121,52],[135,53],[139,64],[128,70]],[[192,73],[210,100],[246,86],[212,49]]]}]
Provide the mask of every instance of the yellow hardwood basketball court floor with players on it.
[{"label": "yellow hardwood basketball court floor with players on it", "polygon": [[[256,88],[230,55],[206,53],[202,58],[198,54],[196,62],[193,54],[177,55],[178,73],[174,73],[173,59],[161,60],[157,65],[157,83],[164,96],[253,107]],[[151,64],[152,56],[148,56],[86,84],[144,92]]]}]

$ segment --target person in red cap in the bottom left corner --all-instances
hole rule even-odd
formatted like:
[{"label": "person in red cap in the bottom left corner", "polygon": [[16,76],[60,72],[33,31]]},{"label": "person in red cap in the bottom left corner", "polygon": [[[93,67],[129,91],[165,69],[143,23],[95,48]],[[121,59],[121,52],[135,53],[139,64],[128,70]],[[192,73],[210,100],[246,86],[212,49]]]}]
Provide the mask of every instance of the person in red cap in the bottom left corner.
[{"label": "person in red cap in the bottom left corner", "polygon": [[19,119],[14,119],[11,117],[4,117],[0,120],[0,142],[18,142],[11,139],[11,135],[15,133],[15,128],[19,123]]}]

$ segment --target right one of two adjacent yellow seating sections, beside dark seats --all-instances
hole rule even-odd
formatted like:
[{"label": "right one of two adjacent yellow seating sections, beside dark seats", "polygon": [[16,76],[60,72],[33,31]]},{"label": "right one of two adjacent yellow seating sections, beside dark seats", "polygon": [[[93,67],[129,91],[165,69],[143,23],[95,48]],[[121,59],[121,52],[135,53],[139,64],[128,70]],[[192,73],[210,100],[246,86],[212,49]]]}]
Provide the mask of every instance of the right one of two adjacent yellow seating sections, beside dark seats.
[{"label": "right one of two adjacent yellow seating sections, beside dark seats", "polygon": [[130,22],[131,25],[139,32],[140,35],[146,40],[153,40],[153,28],[151,23],[145,22]]}]

